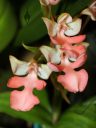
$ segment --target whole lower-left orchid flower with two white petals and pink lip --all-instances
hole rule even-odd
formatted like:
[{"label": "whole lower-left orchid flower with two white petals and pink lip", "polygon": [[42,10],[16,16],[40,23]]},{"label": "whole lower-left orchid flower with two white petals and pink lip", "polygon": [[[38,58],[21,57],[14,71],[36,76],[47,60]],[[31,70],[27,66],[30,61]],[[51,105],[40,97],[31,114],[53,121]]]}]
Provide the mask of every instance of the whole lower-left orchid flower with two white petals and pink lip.
[{"label": "whole lower-left orchid flower with two white petals and pink lip", "polygon": [[[9,79],[8,87],[24,87],[22,91],[12,91],[10,96],[11,107],[18,111],[29,111],[35,105],[39,104],[39,99],[32,91],[34,88],[42,90],[46,86],[44,80],[39,80],[38,76],[48,79],[52,70],[44,64],[37,65],[35,62],[25,62],[10,56],[12,71],[15,75]],[[24,76],[26,75],[26,76]]]}]

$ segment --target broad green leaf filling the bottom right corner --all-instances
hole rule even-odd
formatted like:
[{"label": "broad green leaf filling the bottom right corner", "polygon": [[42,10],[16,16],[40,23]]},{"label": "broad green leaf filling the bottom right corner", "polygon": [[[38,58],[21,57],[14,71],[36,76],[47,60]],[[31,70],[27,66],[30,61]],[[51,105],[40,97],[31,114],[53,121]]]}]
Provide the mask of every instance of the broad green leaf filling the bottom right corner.
[{"label": "broad green leaf filling the bottom right corner", "polygon": [[54,128],[95,128],[96,97],[68,109]]}]

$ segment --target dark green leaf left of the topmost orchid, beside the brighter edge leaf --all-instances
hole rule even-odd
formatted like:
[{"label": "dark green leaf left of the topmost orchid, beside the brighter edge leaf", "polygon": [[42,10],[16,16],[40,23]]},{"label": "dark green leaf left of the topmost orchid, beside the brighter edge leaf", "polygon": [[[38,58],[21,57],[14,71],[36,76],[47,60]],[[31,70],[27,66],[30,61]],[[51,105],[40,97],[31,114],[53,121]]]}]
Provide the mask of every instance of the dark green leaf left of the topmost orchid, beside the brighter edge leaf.
[{"label": "dark green leaf left of the topmost orchid, beside the brighter edge leaf", "polygon": [[[54,8],[54,12],[58,6]],[[35,41],[47,35],[46,26],[42,20],[42,9],[39,0],[28,0],[21,9],[20,19],[22,28],[20,29],[14,46],[20,46],[22,42],[34,44]]]}]

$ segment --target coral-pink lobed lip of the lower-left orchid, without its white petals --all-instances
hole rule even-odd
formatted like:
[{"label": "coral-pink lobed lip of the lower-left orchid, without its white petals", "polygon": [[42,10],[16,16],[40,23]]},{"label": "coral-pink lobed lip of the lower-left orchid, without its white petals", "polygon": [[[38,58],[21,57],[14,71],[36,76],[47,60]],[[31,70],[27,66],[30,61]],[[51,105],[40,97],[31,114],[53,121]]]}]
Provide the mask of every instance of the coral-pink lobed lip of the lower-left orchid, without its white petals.
[{"label": "coral-pink lobed lip of the lower-left orchid, without its white petals", "polygon": [[14,76],[8,81],[8,87],[19,88],[24,86],[22,91],[12,91],[10,96],[11,107],[17,111],[29,111],[39,104],[39,99],[32,91],[34,88],[42,90],[46,82],[39,80],[34,71],[25,77]]}]

